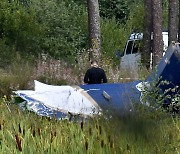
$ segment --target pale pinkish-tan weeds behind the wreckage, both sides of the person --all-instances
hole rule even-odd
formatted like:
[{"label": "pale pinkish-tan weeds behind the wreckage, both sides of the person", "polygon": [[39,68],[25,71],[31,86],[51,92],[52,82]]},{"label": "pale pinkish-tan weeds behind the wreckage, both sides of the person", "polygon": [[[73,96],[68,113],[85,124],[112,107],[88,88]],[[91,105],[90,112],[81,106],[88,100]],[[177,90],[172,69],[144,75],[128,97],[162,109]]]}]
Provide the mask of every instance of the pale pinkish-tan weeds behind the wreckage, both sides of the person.
[{"label": "pale pinkish-tan weeds behind the wreckage, both sides of the person", "polygon": [[[77,59],[77,63],[68,64],[46,54],[41,54],[35,61],[27,61],[16,55],[11,65],[6,66],[6,69],[0,69],[0,96],[10,95],[13,90],[33,89],[33,80],[54,85],[83,84],[84,74],[90,67],[88,52],[79,52]],[[120,69],[119,65],[112,65],[105,57],[99,65],[105,70],[109,83],[138,79],[136,74]],[[142,72],[136,73],[143,74]]]}]

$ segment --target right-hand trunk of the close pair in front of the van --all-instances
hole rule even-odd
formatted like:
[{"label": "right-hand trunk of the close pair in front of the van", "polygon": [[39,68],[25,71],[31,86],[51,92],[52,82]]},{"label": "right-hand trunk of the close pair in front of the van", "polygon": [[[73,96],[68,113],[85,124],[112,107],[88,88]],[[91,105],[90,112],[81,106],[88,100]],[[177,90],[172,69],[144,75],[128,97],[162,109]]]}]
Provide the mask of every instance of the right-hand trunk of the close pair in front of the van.
[{"label": "right-hand trunk of the close pair in front of the van", "polygon": [[163,56],[162,39],[162,0],[153,0],[153,66],[156,66]]}]

